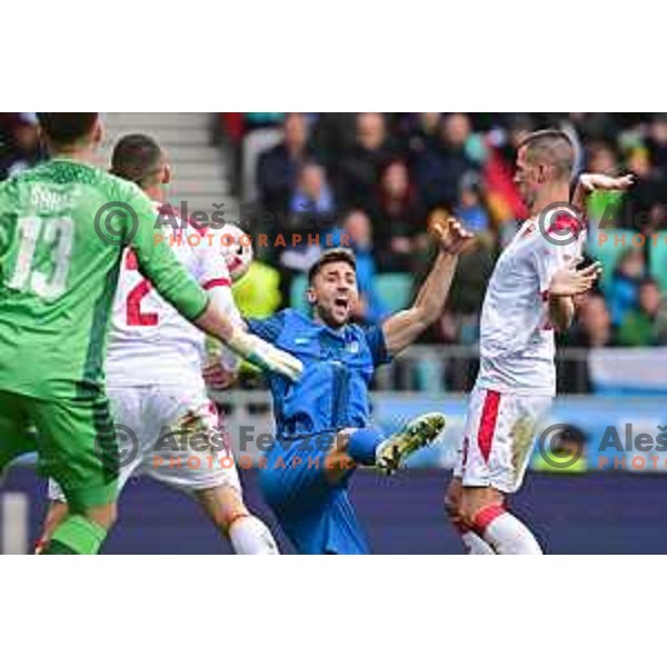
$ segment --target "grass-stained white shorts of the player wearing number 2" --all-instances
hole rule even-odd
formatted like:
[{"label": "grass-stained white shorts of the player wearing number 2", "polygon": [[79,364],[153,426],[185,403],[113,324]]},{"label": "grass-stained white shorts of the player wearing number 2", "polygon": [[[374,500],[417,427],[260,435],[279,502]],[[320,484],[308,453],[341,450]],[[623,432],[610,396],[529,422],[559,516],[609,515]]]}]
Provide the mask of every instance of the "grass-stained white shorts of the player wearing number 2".
[{"label": "grass-stained white shorts of the player wearing number 2", "polygon": [[[185,491],[231,486],[239,476],[227,431],[203,385],[108,387],[120,449],[119,492],[132,475]],[[64,500],[49,480],[49,498]]]}]

